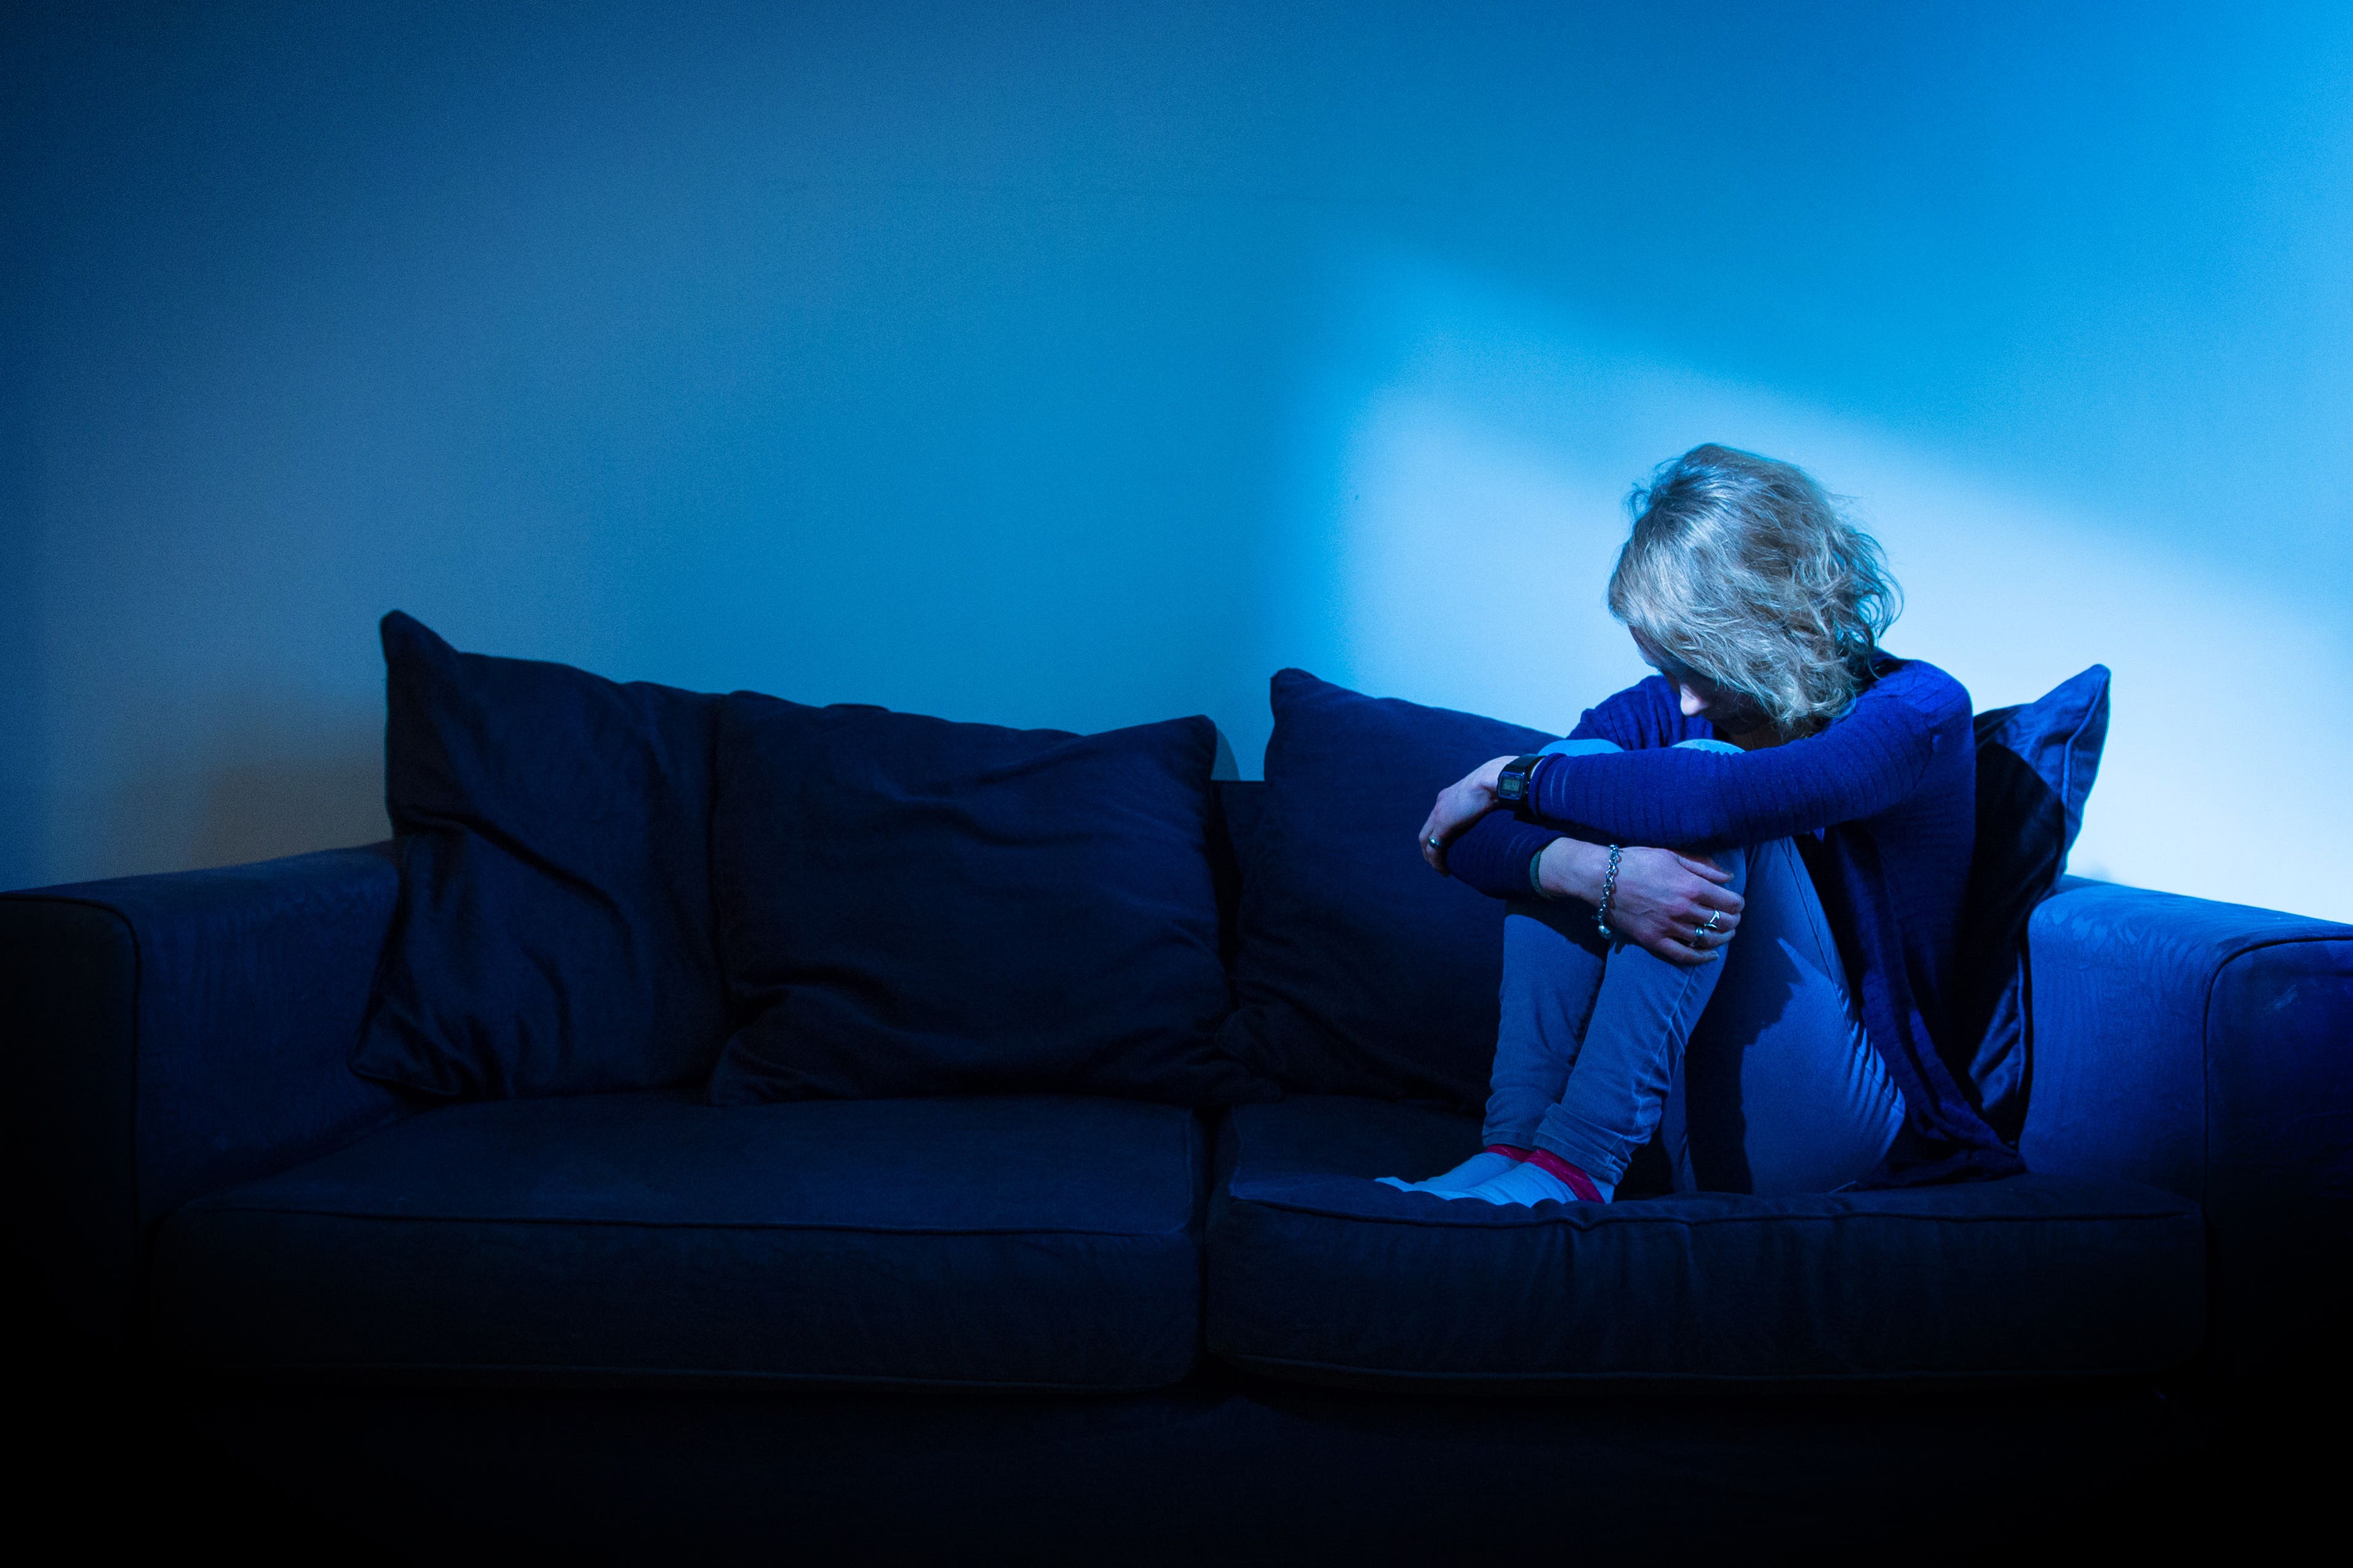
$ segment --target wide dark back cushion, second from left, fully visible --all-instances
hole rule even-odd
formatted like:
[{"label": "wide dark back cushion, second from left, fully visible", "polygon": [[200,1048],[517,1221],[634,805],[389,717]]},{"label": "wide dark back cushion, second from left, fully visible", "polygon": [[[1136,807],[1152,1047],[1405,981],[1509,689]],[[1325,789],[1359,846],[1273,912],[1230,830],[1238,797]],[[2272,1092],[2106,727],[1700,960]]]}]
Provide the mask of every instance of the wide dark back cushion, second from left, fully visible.
[{"label": "wide dark back cushion, second from left, fully visible", "polygon": [[1219,1046],[1214,752],[1198,717],[1073,736],[729,696],[739,1027],[711,1098],[1268,1095]]}]

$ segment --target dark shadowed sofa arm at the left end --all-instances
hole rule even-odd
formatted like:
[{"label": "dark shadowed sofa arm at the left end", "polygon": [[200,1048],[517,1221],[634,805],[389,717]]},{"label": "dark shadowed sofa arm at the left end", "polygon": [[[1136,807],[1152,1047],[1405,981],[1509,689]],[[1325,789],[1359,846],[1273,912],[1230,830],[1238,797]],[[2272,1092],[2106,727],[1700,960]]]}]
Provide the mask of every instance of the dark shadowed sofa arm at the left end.
[{"label": "dark shadowed sofa arm at the left end", "polygon": [[14,1227],[92,1331],[127,1340],[165,1213],[405,1112],[348,1067],[386,849],[0,896]]}]

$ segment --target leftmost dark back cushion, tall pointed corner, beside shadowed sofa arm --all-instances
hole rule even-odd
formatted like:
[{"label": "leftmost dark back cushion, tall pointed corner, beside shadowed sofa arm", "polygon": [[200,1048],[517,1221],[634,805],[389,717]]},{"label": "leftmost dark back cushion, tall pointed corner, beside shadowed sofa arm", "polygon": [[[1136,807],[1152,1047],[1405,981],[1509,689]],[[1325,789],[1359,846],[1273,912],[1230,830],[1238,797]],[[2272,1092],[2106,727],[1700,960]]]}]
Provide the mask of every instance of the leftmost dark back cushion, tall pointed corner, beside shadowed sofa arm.
[{"label": "leftmost dark back cushion, tall pointed corner, beside shadowed sofa arm", "polygon": [[381,630],[400,903],[353,1067],[442,1098],[699,1081],[720,698]]}]

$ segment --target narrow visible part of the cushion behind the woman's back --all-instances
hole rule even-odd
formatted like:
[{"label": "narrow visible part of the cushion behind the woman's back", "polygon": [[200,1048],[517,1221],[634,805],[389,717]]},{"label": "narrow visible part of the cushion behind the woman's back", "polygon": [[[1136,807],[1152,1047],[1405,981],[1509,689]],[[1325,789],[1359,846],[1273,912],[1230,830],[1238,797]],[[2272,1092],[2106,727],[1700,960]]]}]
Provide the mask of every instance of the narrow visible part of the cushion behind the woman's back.
[{"label": "narrow visible part of the cushion behind the woman's back", "polygon": [[2066,875],[2108,738],[2108,665],[1977,715],[1977,851],[1960,914],[1951,1065],[2012,1147],[2026,1126],[2026,922]]}]

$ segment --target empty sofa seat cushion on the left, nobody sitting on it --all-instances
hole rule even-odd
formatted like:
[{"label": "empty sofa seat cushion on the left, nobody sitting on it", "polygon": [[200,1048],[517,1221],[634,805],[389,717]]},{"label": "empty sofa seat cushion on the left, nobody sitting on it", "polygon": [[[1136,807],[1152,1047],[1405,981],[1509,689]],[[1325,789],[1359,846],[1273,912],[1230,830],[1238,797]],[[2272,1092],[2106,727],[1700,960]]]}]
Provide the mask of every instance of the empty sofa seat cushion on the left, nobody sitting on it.
[{"label": "empty sofa seat cushion on the left, nobody sitting on it", "polygon": [[162,1227],[167,1354],[489,1380],[1144,1389],[1200,1340],[1193,1112],[452,1105]]}]

